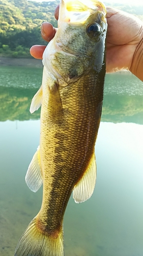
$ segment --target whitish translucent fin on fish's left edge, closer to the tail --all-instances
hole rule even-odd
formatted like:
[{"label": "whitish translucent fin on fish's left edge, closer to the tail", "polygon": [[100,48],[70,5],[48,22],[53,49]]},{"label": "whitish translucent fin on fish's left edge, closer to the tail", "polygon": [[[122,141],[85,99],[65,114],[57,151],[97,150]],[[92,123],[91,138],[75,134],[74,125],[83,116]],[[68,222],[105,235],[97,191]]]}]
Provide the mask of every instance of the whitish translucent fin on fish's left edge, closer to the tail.
[{"label": "whitish translucent fin on fish's left edge, closer to the tail", "polygon": [[41,187],[43,183],[42,172],[40,167],[40,146],[37,148],[37,151],[34,154],[30,165],[28,166],[25,181],[27,186],[33,192],[37,192],[37,190]]}]

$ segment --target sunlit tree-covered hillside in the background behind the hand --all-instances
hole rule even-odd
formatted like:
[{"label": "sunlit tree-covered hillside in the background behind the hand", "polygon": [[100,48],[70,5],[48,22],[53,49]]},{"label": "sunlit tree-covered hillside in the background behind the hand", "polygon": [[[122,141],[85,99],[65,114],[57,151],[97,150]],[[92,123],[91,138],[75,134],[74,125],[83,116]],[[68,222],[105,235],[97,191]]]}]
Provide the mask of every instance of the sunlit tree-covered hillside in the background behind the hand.
[{"label": "sunlit tree-covered hillside in the background behind the hand", "polygon": [[[32,45],[46,44],[41,38],[40,26],[45,20],[56,26],[54,9],[59,2],[60,0],[43,3],[0,0],[0,56],[30,57],[29,49]],[[111,5],[106,4],[106,6]],[[121,4],[112,6],[143,20],[142,7]]]}]

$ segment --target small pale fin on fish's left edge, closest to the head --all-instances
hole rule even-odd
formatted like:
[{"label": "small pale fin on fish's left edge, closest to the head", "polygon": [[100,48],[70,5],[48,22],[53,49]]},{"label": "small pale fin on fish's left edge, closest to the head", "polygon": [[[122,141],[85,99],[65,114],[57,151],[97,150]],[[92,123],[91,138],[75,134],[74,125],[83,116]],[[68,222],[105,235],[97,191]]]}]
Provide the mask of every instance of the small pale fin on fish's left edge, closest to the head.
[{"label": "small pale fin on fish's left edge, closest to the head", "polygon": [[41,102],[42,102],[42,86],[40,87],[40,89],[32,99],[31,106],[30,106],[31,114],[40,108]]}]

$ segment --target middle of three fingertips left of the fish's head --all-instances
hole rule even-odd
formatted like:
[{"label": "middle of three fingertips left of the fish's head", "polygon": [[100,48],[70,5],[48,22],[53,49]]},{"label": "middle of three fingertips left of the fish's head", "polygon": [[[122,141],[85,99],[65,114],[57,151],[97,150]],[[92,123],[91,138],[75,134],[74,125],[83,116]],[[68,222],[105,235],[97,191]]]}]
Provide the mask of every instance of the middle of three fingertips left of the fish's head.
[{"label": "middle of three fingertips left of the fish's head", "polygon": [[56,32],[56,28],[54,28],[49,22],[43,22],[41,25],[41,36],[45,41],[50,41]]}]

